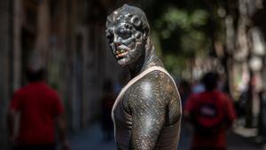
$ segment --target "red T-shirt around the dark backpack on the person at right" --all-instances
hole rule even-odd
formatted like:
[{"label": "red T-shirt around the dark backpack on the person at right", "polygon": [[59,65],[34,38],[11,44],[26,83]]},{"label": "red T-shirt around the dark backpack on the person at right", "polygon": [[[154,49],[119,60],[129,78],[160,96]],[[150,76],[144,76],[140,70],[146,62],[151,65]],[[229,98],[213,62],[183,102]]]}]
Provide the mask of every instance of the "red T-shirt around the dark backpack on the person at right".
[{"label": "red T-shirt around the dark backpack on the person at right", "polygon": [[[198,104],[197,100],[200,100],[201,102],[207,102],[212,100],[214,97],[215,101],[218,103],[218,106],[221,106],[221,108],[223,109],[227,121],[233,122],[236,118],[236,114],[232,105],[232,101],[221,91],[204,91],[199,94],[192,95],[191,98],[187,100],[187,103],[184,107],[184,111],[191,114],[192,110],[195,109],[196,104]],[[225,148],[226,128],[222,128],[221,130],[219,130],[218,134],[212,138],[202,137],[198,134],[194,134],[192,148],[200,147]]]}]

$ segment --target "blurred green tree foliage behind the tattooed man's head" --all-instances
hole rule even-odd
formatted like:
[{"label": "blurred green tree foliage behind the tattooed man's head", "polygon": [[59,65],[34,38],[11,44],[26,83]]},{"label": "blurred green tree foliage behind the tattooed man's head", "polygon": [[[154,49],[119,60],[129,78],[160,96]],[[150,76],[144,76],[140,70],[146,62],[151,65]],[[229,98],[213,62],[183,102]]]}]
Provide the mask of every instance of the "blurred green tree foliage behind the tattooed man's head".
[{"label": "blurred green tree foliage behind the tattooed man's head", "polygon": [[[152,33],[157,36],[156,45],[161,47],[166,67],[179,74],[188,67],[193,58],[204,57],[213,45],[217,15],[207,0],[187,1],[139,1],[151,22]],[[211,5],[211,8],[210,8]],[[214,16],[215,15],[215,16]]]}]

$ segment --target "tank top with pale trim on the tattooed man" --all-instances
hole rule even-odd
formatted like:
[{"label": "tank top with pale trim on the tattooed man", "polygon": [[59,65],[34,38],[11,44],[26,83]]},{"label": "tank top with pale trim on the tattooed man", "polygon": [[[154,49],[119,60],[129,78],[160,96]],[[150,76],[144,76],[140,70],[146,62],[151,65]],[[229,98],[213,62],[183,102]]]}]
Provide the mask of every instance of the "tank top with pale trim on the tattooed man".
[{"label": "tank top with pale trim on the tattooed man", "polygon": [[[136,83],[143,76],[155,70],[165,73],[174,82],[173,78],[168,74],[168,72],[163,67],[149,67],[140,75],[137,75],[135,78],[130,80],[129,83],[121,90],[120,94],[118,95],[117,99],[114,102],[112,110],[112,118],[114,124],[114,137],[117,144],[117,148],[119,150],[129,150],[129,141],[131,137],[131,128],[132,128],[132,116],[127,114],[122,109],[121,97],[133,83]],[[182,110],[181,105],[180,105],[180,110]],[[163,127],[160,133],[159,142],[157,144],[156,150],[176,150],[179,141],[179,132],[180,132],[180,119],[171,126]]]}]

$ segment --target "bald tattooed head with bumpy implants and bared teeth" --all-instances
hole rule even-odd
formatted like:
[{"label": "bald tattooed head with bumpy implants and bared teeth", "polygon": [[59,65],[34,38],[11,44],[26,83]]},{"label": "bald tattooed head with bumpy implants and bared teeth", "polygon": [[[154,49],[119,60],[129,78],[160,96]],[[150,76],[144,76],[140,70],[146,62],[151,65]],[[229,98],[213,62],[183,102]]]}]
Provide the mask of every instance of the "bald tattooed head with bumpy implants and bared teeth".
[{"label": "bald tattooed head with bumpy implants and bared teeth", "polygon": [[118,64],[129,66],[149,49],[150,26],[141,9],[124,4],[106,21],[106,37]]}]

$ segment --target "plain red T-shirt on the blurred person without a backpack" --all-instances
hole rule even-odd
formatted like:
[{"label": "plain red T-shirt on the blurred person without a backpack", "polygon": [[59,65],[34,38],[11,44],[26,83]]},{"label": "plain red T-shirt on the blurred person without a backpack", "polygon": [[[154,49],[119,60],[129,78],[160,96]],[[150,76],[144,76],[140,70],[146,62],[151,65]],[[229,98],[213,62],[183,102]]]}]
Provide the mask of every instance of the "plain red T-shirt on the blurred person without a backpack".
[{"label": "plain red T-shirt on the blurred person without a backpack", "polygon": [[18,145],[55,142],[55,117],[64,113],[56,91],[43,82],[29,83],[14,94],[10,108],[20,113]]}]

